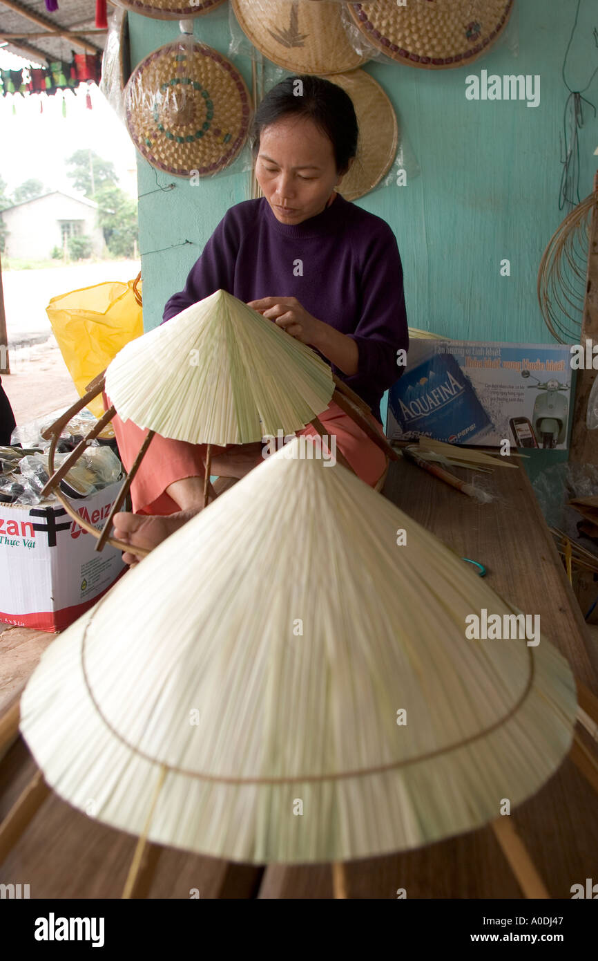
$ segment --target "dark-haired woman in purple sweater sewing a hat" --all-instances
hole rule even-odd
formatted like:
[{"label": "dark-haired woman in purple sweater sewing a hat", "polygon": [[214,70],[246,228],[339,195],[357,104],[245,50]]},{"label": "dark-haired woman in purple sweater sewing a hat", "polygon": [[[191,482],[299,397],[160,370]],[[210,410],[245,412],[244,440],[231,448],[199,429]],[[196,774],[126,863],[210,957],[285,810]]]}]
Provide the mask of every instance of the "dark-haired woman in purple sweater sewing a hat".
[{"label": "dark-haired woman in purple sweater sewing a hat", "polygon": [[[395,234],[335,190],[355,158],[357,137],[355,111],[341,87],[311,76],[275,86],[251,130],[264,196],[227,210],[162,322],[227,290],[315,348],[381,427],[380,400],[403,369],[396,357],[408,347],[407,317]],[[373,486],[384,454],[336,404],[320,420]],[[117,417],[114,427],[129,468],[146,431]],[[154,547],[201,509],[204,452],[203,445],[155,436],[132,483],[135,513],[115,517],[115,536],[132,545],[127,563],[137,559],[134,546]],[[220,478],[244,477],[260,463],[260,444],[212,448],[211,472]]]}]

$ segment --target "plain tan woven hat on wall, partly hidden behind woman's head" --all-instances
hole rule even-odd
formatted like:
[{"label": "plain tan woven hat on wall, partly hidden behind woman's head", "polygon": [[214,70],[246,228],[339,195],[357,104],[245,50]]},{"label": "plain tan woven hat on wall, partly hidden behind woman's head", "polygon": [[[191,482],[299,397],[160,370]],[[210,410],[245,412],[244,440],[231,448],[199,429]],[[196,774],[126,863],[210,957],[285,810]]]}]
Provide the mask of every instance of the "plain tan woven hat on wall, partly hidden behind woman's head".
[{"label": "plain tan woven hat on wall, partly hidden behind woman's head", "polygon": [[356,200],[380,183],[395,160],[396,114],[382,87],[365,70],[336,73],[327,80],[343,87],[357,114],[357,156],[338,187],[346,200]]}]

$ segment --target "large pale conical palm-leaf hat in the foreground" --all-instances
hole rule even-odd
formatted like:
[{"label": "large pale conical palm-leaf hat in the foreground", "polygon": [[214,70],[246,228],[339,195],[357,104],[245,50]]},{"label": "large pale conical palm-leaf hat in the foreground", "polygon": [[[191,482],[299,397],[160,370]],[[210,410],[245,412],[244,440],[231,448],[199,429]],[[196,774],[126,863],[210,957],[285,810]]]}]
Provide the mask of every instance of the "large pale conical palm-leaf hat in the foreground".
[{"label": "large pale conical palm-leaf hat in the foreground", "polygon": [[515,609],[300,440],[43,654],[21,731],[65,801],[234,861],[348,860],[484,825],[561,764],[562,655],[468,639]]}]

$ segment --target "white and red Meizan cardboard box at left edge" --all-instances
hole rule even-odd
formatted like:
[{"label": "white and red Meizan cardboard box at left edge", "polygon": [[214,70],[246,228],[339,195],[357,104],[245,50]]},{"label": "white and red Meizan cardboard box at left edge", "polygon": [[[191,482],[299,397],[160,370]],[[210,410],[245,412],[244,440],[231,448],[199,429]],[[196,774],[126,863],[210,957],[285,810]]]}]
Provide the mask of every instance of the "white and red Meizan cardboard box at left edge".
[{"label": "white and red Meizan cardboard box at left edge", "polygon": [[[120,487],[70,503],[101,528]],[[120,551],[96,543],[56,502],[0,503],[0,621],[56,632],[81,617],[126,569]]]}]

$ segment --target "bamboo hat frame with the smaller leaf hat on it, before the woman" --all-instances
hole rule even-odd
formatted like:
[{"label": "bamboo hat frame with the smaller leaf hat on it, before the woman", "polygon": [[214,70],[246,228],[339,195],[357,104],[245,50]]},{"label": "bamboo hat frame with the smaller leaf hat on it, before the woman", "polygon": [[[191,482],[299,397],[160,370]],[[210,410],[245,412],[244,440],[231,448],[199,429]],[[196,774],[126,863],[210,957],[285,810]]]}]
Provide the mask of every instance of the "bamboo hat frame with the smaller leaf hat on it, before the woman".
[{"label": "bamboo hat frame with the smaller leaf hat on it, before the woman", "polygon": [[[216,331],[214,331],[215,327]],[[252,340],[255,343],[251,347]],[[242,344],[245,350],[240,351],[239,344]],[[203,373],[189,362],[189,354],[193,350],[197,350],[199,357],[202,357]],[[162,367],[155,361],[156,355],[160,352],[164,357]],[[263,379],[253,378],[253,384],[251,384],[251,365],[257,357],[261,357],[262,362],[266,362],[268,375]],[[214,371],[222,376],[217,380],[206,381],[203,374],[207,376]],[[136,379],[138,380],[142,374],[147,382],[145,390],[139,390],[138,386],[135,386]],[[260,380],[263,380],[263,383],[258,383]],[[75,414],[102,393],[107,382],[110,402],[113,403],[95,427],[88,432],[71,454],[65,457],[58,470],[55,470],[54,458],[60,432]],[[176,415],[167,420],[161,418],[159,400],[158,403],[153,403],[150,396],[162,397],[164,382],[170,384],[171,393],[178,401]],[[202,397],[202,390],[198,394],[198,387],[209,390],[210,384],[212,391],[220,391],[218,395],[220,407],[226,408],[226,423],[224,427],[220,424],[217,430],[231,431],[229,433],[214,434],[212,432],[215,407],[211,404],[203,407],[202,419],[194,418],[190,423],[182,424],[185,401],[191,397],[195,410],[195,406],[200,403]],[[245,400],[240,397],[243,392]],[[123,407],[119,403],[121,399]],[[266,434],[275,436],[280,428],[283,432],[290,433],[301,430],[308,424],[313,425],[324,438],[325,431],[318,414],[328,406],[330,400],[341,407],[373,443],[384,451],[387,456],[387,465],[389,460],[397,459],[397,454],[390,442],[371,423],[368,416],[370,408],[346,383],[332,374],[328,365],[315,351],[276,327],[271,320],[262,317],[256,310],[249,308],[231,294],[219,290],[198,304],[182,310],[167,324],[162,324],[154,331],[142,334],[141,337],[127,344],[109,364],[108,370],[103,371],[89,383],[84,396],[69,407],[46,431],[43,431],[42,436],[51,441],[48,452],[50,479],[42,489],[41,495],[46,497],[50,493],[55,494],[67,513],[77,520],[84,530],[98,539],[97,551],[101,551],[106,543],[120,551],[129,551],[130,547],[127,544],[110,537],[109,533],[114,515],[125,504],[132,480],[156,432],[167,437],[174,436],[189,443],[207,445],[203,480],[203,504],[207,505],[209,500],[217,496],[209,481],[211,446],[214,443],[217,442],[219,445],[247,443],[261,439],[264,431]],[[218,407],[219,405],[216,405],[216,412]],[[244,411],[244,407],[250,409],[252,421],[251,418],[248,420],[248,413],[247,410]],[[124,419],[131,417],[134,424],[147,429],[148,433],[132,463],[129,475],[111,506],[104,528],[99,531],[76,513],[71,502],[60,491],[60,480],[68,474],[89,443],[105,430],[117,411]],[[243,415],[243,423],[241,423],[241,415]],[[260,425],[262,416],[265,423]],[[336,456],[340,463],[352,470],[340,451],[337,451]],[[380,478],[379,486],[382,485],[385,477],[386,472]],[[139,556],[145,556],[148,553],[141,548],[135,550]]]}]

